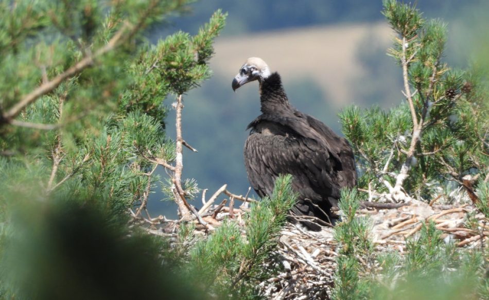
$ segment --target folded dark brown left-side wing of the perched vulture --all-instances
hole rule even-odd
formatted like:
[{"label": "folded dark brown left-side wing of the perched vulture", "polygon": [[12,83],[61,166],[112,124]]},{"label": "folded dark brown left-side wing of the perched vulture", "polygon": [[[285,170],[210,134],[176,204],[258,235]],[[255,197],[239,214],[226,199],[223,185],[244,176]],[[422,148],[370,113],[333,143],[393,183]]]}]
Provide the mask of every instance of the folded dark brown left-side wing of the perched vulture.
[{"label": "folded dark brown left-side wing of the perched vulture", "polygon": [[262,115],[250,125],[263,123],[280,126],[282,133],[252,133],[247,139],[245,164],[250,183],[258,194],[261,197],[271,195],[273,180],[279,174],[290,173],[295,190],[310,200],[338,199],[335,174],[338,158],[325,148],[318,133],[311,132],[313,130],[303,120],[292,117]]}]

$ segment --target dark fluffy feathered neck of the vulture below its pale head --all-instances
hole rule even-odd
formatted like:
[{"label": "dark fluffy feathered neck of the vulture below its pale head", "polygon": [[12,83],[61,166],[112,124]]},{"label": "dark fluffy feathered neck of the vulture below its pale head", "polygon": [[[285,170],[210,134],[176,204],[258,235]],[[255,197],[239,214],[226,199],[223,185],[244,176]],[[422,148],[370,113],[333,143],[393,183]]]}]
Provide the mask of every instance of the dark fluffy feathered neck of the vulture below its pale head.
[{"label": "dark fluffy feathered neck of the vulture below its pale head", "polygon": [[291,108],[278,73],[275,72],[260,82],[260,102],[261,112],[264,114]]}]

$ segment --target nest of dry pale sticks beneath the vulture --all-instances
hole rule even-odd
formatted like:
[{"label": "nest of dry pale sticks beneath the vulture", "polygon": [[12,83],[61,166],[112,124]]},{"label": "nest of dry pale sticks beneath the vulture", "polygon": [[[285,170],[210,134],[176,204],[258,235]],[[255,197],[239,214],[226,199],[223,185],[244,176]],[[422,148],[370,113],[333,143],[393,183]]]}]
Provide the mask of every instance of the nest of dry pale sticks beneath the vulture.
[{"label": "nest of dry pale sticks beneath the vulture", "polygon": [[[468,213],[479,220],[477,230],[463,226]],[[453,240],[459,247],[480,247],[489,235],[484,216],[469,204],[430,206],[413,200],[397,208],[361,209],[358,214],[372,221],[376,253],[403,254],[406,238],[418,233],[429,220],[443,232],[446,242]],[[301,225],[287,224],[277,248],[284,271],[263,281],[259,285],[261,294],[269,299],[329,299],[340,246],[331,227],[311,232]]]}]

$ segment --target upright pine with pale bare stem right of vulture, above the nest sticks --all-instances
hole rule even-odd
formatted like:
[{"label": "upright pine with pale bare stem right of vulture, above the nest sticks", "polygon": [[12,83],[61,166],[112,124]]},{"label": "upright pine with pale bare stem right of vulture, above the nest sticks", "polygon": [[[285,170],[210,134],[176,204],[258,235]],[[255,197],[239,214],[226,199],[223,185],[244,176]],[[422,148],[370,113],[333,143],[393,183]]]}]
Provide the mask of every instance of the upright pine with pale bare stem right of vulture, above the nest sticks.
[{"label": "upright pine with pale bare stem right of vulture, above the nest sticks", "polygon": [[426,20],[414,5],[394,0],[383,3],[382,13],[397,34],[388,54],[400,66],[405,100],[390,110],[349,107],[340,114],[360,188],[403,202],[430,199],[449,182],[470,189],[478,178],[486,184],[489,118],[481,73],[444,62],[441,20]]}]

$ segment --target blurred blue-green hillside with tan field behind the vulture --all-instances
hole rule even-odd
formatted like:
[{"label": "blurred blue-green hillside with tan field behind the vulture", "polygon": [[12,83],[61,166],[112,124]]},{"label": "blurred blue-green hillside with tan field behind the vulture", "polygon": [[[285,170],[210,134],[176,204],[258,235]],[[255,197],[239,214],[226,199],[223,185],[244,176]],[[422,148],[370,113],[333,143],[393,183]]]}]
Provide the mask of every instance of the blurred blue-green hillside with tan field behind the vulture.
[{"label": "blurred blue-green hillside with tan field behind the vulture", "polygon": [[[183,135],[199,151],[185,149],[184,177],[209,193],[223,184],[238,195],[247,192],[242,149],[248,123],[260,114],[258,84],[233,93],[231,81],[248,57],[263,58],[282,75],[291,103],[336,132],[337,113],[345,105],[389,108],[403,101],[400,68],[386,55],[393,33],[381,6],[381,0],[204,0],[186,16],[153,27],[148,38],[156,42],[177,30],[195,34],[218,8],[229,13],[211,60],[213,78],[184,98]],[[446,62],[465,68],[487,59],[489,1],[419,0],[417,7],[425,17],[448,23]],[[166,126],[174,137],[174,111]],[[154,193],[150,211],[176,216],[164,198]]]}]

